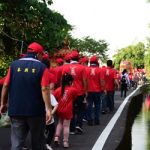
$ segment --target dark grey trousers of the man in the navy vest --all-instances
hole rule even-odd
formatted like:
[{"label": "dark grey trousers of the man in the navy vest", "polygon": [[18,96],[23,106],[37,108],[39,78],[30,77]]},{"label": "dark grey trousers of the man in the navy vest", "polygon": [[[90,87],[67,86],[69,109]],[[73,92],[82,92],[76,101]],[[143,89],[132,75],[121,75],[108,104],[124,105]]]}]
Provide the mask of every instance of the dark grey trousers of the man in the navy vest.
[{"label": "dark grey trousers of the man in the navy vest", "polygon": [[46,150],[45,117],[10,117],[11,150],[22,150],[30,131],[32,150]]}]

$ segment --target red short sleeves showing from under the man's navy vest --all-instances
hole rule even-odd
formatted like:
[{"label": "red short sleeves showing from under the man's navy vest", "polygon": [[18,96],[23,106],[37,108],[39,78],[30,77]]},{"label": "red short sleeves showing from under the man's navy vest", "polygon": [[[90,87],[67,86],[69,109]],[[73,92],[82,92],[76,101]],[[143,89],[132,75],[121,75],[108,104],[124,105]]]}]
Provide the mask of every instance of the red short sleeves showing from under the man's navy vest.
[{"label": "red short sleeves showing from under the man's navy vest", "polygon": [[[46,68],[44,70],[44,73],[43,73],[43,76],[42,76],[41,86],[49,86],[49,83],[50,83],[49,75],[50,75],[49,70]],[[10,81],[10,68],[8,69],[4,84],[9,85],[9,81]]]}]

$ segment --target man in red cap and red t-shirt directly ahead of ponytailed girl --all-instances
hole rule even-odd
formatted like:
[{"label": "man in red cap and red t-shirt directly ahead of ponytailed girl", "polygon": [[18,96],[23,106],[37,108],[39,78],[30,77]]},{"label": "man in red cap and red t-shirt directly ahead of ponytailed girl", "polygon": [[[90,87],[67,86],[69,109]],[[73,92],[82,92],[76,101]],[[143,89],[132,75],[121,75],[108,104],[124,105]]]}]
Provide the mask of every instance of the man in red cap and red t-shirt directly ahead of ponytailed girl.
[{"label": "man in red cap and red t-shirt directly ahead of ponytailed girl", "polygon": [[[77,99],[74,104],[74,117],[71,121],[71,132],[75,132],[75,128],[79,132],[83,132],[82,129],[82,120],[83,120],[83,113],[85,111],[85,90],[86,90],[86,80],[85,80],[85,66],[79,64],[79,53],[77,51],[71,52],[71,62],[69,65],[63,68],[63,74],[70,73],[73,78],[73,87],[78,90],[77,92]],[[75,117],[75,115],[77,117]],[[76,127],[75,127],[76,125]]]}]

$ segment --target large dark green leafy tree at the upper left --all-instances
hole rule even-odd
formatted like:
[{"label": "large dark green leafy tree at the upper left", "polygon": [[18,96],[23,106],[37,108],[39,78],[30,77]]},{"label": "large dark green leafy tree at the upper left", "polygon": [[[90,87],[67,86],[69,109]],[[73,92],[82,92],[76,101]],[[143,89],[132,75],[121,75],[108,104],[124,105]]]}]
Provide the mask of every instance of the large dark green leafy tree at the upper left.
[{"label": "large dark green leafy tree at the upper left", "polygon": [[14,55],[16,45],[22,41],[37,41],[48,51],[61,45],[72,30],[64,17],[48,8],[51,0],[1,0],[1,47],[8,55]]}]

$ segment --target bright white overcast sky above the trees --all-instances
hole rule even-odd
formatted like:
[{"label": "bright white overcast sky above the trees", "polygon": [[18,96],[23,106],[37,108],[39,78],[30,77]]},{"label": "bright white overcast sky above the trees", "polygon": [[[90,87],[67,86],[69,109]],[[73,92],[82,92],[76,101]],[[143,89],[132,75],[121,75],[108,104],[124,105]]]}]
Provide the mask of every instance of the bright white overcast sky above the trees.
[{"label": "bright white overcast sky above the trees", "polygon": [[50,8],[74,26],[73,37],[106,40],[110,56],[150,37],[150,3],[146,0],[53,0]]}]

